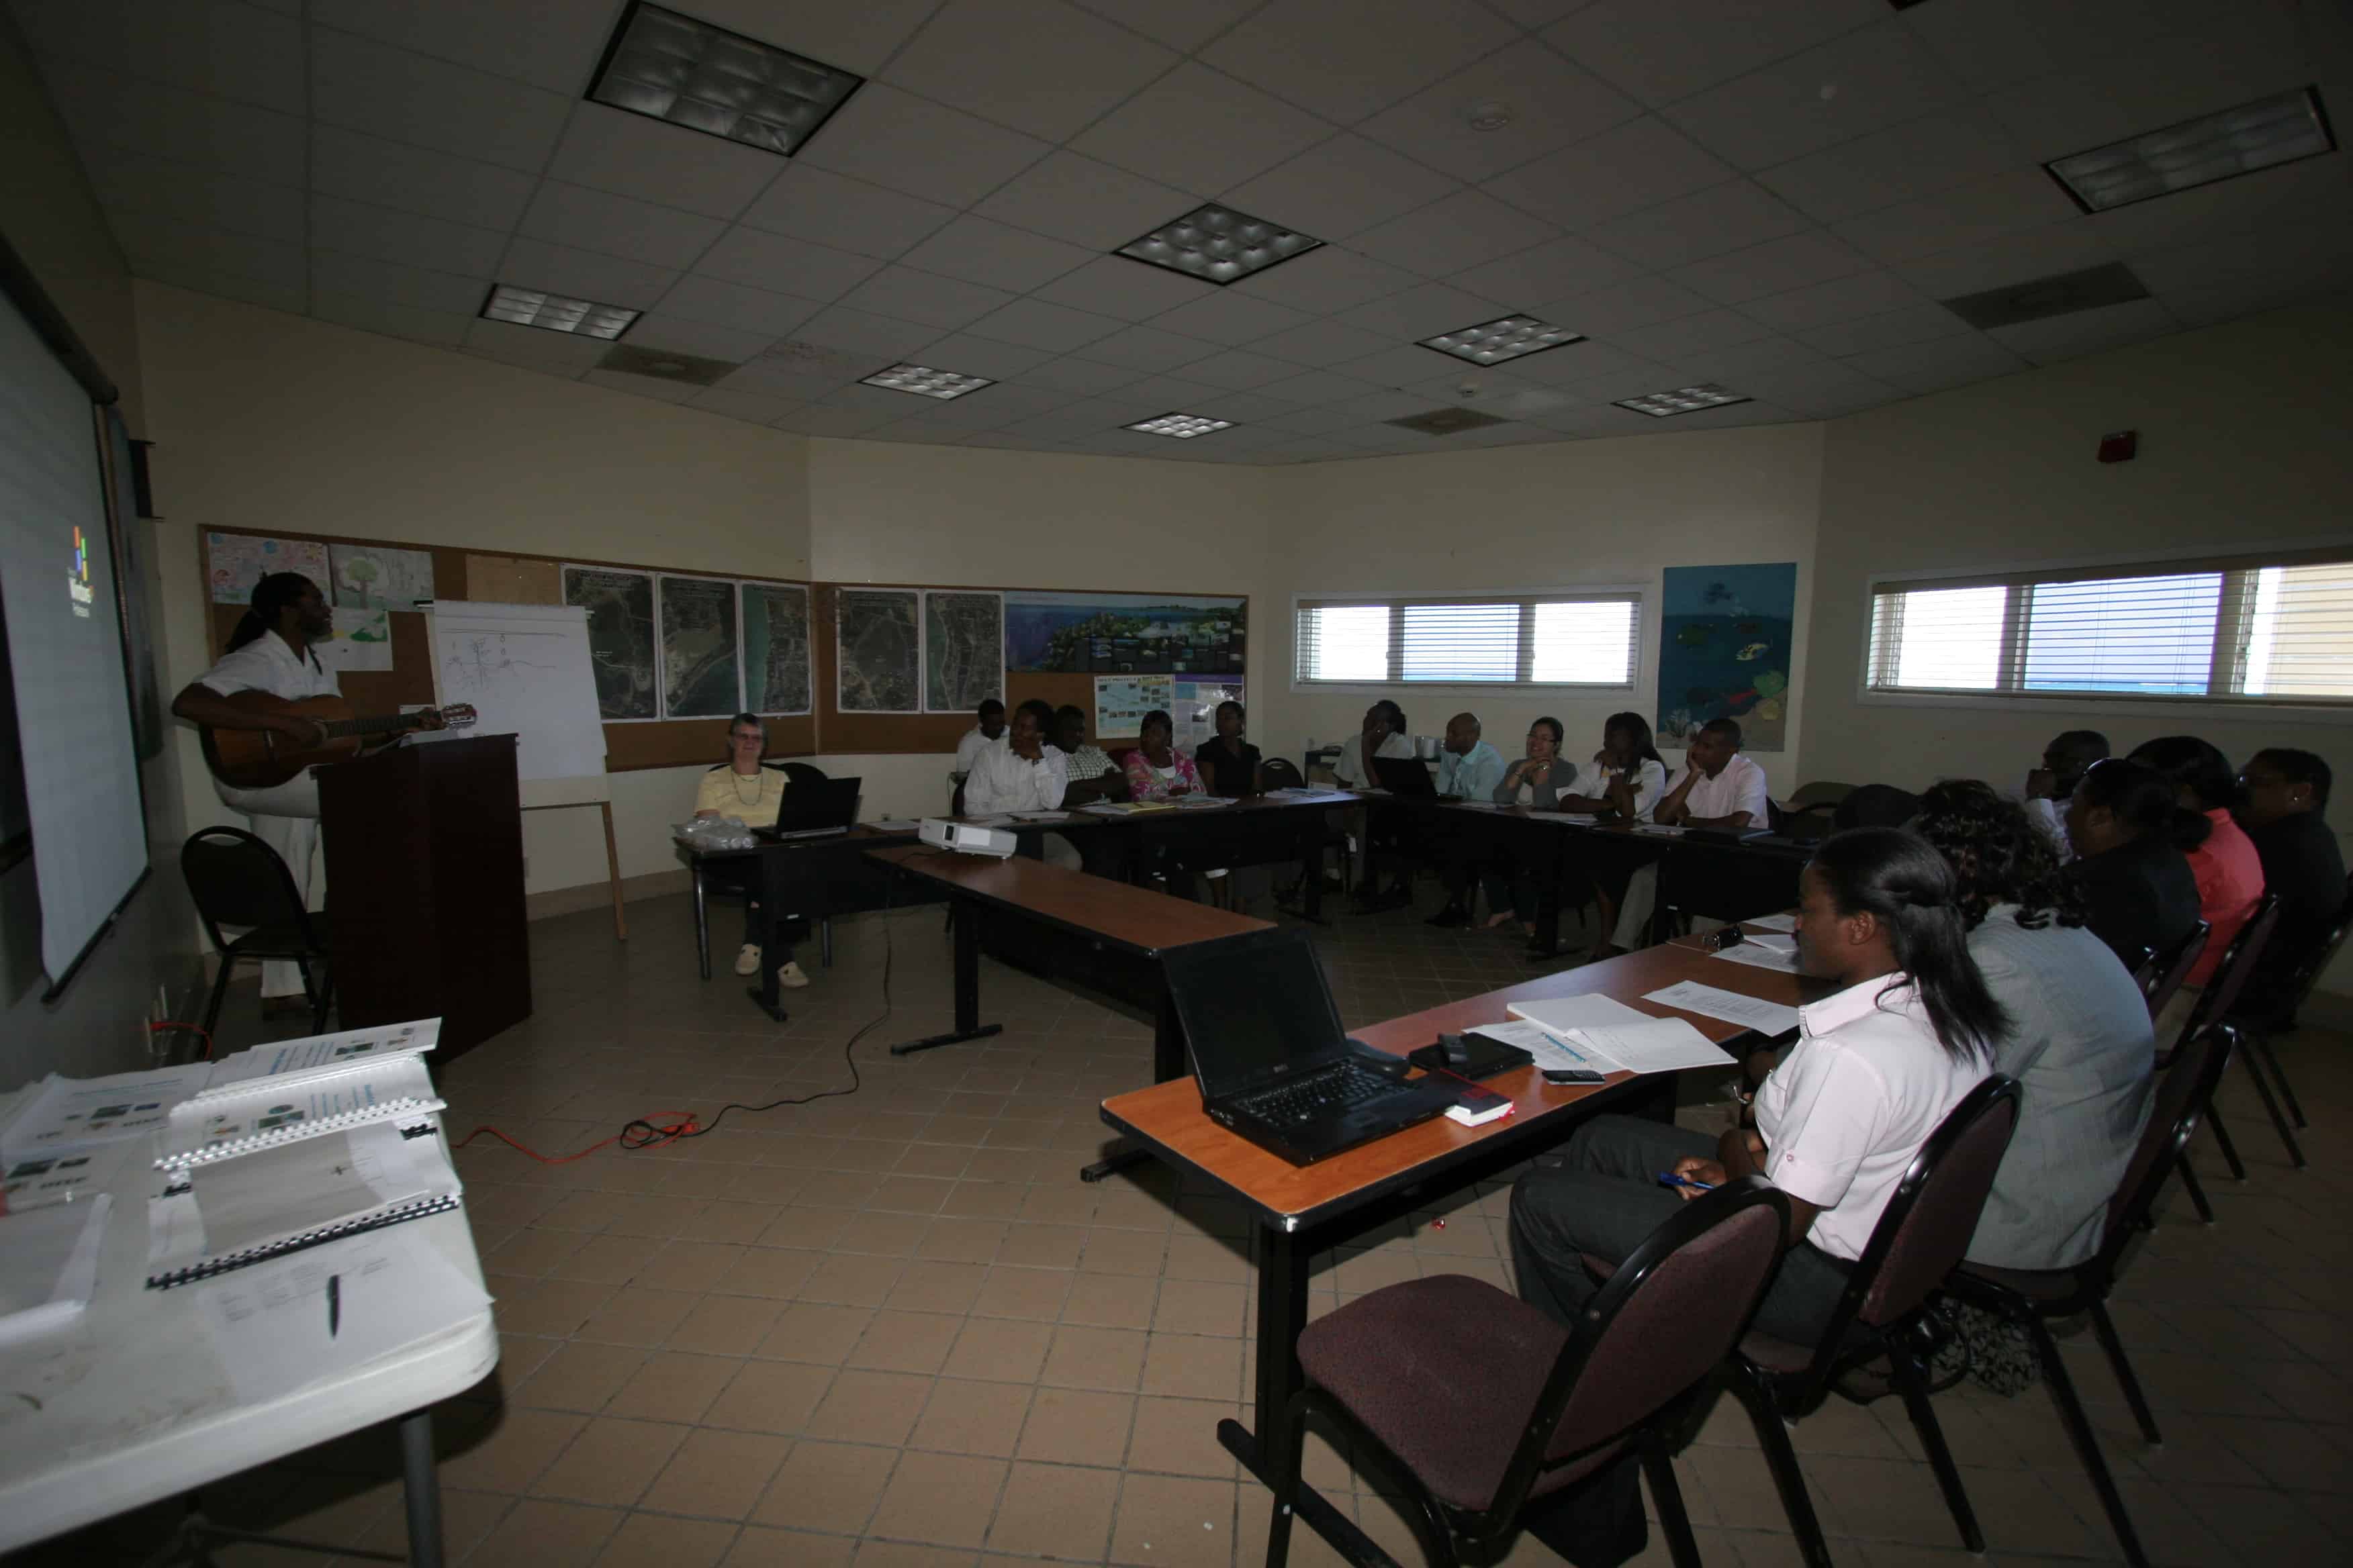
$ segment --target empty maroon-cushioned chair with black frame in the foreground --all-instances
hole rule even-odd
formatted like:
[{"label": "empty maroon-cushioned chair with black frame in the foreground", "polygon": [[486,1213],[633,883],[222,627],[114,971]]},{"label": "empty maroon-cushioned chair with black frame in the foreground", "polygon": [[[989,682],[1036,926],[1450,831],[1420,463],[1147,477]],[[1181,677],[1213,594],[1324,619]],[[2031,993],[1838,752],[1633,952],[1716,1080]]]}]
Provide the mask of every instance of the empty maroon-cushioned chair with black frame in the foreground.
[{"label": "empty maroon-cushioned chair with black frame in the foreground", "polygon": [[1299,1335],[1306,1387],[1289,1403],[1287,1453],[1268,1455],[1266,1568],[1289,1556],[1311,1413],[1405,1481],[1433,1563],[1494,1554],[1532,1497],[1633,1450],[1678,1568],[1697,1568],[1664,1413],[1729,1354],[1786,1229],[1784,1194],[1727,1182],[1654,1229],[1577,1328],[1464,1274],[1386,1286],[1315,1319]]}]

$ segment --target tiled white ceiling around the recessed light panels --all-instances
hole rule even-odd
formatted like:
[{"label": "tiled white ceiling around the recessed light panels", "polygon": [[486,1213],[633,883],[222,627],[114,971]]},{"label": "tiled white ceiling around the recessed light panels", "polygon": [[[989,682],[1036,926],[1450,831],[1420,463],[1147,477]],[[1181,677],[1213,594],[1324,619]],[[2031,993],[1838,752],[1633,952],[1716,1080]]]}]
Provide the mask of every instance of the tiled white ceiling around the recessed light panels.
[{"label": "tiled white ceiling around the recessed light panels", "polygon": [[[1292,463],[1779,423],[2353,277],[2346,153],[2101,216],[2038,167],[2306,82],[2344,125],[2341,0],[673,0],[868,78],[793,160],[588,103],[621,0],[9,9],[136,275],[807,435]],[[1325,247],[1224,289],[1108,256],[1205,200]],[[2153,299],[1934,303],[2106,261]],[[595,369],[478,320],[492,280],[741,369]],[[1591,341],[1414,346],[1506,313]],[[896,360],[1000,386],[859,386]],[[1753,402],[1609,407],[1694,381]],[[1464,383],[1508,423],[1381,423]],[[1235,428],[1122,430],[1167,411]]]}]

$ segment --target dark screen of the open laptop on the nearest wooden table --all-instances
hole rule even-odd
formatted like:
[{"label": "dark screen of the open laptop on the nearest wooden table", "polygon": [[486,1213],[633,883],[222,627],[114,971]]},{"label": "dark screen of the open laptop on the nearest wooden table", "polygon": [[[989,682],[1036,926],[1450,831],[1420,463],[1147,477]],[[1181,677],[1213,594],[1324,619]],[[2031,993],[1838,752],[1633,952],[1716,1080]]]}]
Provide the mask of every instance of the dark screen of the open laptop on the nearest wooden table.
[{"label": "dark screen of the open laptop on the nearest wooden table", "polygon": [[1306,931],[1254,931],[1160,959],[1209,1100],[1247,1093],[1344,1046],[1339,1009]]}]

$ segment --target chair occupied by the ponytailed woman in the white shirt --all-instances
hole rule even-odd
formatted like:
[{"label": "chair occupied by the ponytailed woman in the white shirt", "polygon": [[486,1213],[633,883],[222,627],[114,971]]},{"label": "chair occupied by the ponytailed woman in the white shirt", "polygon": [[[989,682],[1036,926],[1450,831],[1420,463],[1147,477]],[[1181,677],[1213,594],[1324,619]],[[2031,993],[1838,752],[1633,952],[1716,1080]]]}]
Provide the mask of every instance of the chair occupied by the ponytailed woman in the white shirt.
[{"label": "chair occupied by the ponytailed woman in the white shirt", "polygon": [[1880,1211],[1880,1222],[1871,1229],[1871,1244],[1847,1276],[1847,1291],[1831,1309],[1828,1328],[1819,1345],[1793,1345],[1751,1331],[1734,1354],[1737,1378],[1732,1387],[1755,1420],[1758,1443],[1772,1467],[1781,1505],[1788,1509],[1791,1530],[1809,1568],[1828,1568],[1831,1547],[1821,1537],[1821,1521],[1805,1490],[1805,1474],[1798,1469],[1798,1450],[1788,1441],[1788,1420],[1821,1406],[1831,1392],[1831,1380],[1840,1373],[1880,1356],[1894,1373],[1894,1387],[1904,1394],[1913,1432],[1927,1450],[1927,1462],[1944,1488],[1944,1502],[1953,1509],[1953,1523],[1969,1552],[1984,1552],[1986,1537],[1977,1528],[1969,1495],[1960,1486],[1960,1469],[1953,1450],[1944,1443],[1944,1429],[1927,1399],[1927,1366],[1918,1347],[1918,1326],[1927,1309],[1929,1293],[1960,1262],[1969,1237],[1977,1234],[1979,1211],[1993,1192],[1993,1173],[2009,1150],[2009,1133],[2019,1124],[2019,1081],[2002,1074],[1962,1095],[1960,1105],[1929,1133],[1911,1168],[1897,1182],[1894,1197]]}]

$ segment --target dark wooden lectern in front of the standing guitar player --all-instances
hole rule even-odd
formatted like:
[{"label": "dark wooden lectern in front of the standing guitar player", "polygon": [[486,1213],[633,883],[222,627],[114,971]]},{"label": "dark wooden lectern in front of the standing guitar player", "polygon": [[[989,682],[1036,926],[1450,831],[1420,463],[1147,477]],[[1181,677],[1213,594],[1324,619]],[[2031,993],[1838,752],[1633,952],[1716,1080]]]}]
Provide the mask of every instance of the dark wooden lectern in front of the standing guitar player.
[{"label": "dark wooden lectern in front of the standing guitar player", "polygon": [[515,736],[318,771],[341,1027],[440,1018],[447,1063],[532,1016]]}]

